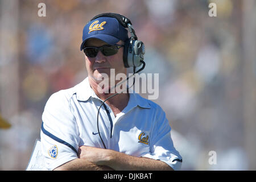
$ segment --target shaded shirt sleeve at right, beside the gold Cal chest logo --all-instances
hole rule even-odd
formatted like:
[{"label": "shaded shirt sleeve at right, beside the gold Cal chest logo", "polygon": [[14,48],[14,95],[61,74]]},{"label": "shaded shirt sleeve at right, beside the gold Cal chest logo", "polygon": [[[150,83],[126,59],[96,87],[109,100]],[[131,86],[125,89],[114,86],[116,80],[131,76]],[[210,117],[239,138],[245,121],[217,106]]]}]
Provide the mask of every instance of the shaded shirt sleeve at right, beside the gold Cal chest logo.
[{"label": "shaded shirt sleeve at right, beside the gold Cal chest logo", "polygon": [[144,157],[161,160],[167,163],[172,169],[180,170],[182,158],[175,149],[171,138],[171,126],[169,125],[166,114],[159,109],[157,122],[154,126],[150,138],[150,153]]}]

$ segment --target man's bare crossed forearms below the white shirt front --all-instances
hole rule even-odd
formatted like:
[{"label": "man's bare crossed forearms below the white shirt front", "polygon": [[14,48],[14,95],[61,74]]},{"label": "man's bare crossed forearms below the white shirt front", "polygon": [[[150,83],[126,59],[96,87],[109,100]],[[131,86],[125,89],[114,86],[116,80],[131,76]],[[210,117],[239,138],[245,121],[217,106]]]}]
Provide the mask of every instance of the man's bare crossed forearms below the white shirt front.
[{"label": "man's bare crossed forearms below the white shirt front", "polygon": [[160,160],[135,157],[114,150],[89,146],[81,146],[78,157],[54,170],[173,170]]}]

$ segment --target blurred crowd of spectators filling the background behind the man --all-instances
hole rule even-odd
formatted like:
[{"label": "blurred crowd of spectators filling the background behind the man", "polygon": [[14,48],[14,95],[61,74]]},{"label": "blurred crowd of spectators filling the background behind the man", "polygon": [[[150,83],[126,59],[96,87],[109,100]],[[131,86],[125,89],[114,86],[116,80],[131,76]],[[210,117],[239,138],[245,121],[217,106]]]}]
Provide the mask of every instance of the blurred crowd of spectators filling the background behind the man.
[{"label": "blurred crowd of spectators filling the background behind the man", "polygon": [[108,12],[127,16],[146,45],[143,72],[159,73],[154,102],[182,169],[255,170],[254,0],[0,0],[0,113],[12,125],[0,129],[0,170],[26,169],[49,96],[87,76],[83,27]]}]

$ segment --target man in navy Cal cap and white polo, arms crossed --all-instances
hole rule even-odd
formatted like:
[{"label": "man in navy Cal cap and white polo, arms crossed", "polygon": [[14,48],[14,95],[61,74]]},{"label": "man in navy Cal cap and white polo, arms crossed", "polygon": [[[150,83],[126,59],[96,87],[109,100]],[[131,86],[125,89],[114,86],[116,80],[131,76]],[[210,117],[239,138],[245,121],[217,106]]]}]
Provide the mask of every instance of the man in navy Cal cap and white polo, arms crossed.
[{"label": "man in navy Cal cap and white polo, arms crossed", "polygon": [[180,169],[182,159],[161,107],[137,93],[109,98],[114,94],[108,92],[110,86],[99,86],[104,74],[110,77],[110,69],[127,74],[123,46],[128,39],[117,18],[100,16],[84,27],[81,49],[88,77],[71,89],[52,94],[42,115],[41,143],[47,169]]}]

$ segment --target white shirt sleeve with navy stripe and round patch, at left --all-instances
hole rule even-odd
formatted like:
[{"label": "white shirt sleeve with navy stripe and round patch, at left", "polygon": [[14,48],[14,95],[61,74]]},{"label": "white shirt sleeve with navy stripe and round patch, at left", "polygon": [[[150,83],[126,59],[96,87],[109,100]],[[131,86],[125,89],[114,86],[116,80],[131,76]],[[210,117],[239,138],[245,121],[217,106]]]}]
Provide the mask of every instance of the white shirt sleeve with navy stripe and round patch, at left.
[{"label": "white shirt sleeve with navy stripe and round patch, at left", "polygon": [[79,132],[63,91],[52,94],[44,107],[40,132],[41,150],[48,170],[77,158]]}]

